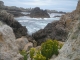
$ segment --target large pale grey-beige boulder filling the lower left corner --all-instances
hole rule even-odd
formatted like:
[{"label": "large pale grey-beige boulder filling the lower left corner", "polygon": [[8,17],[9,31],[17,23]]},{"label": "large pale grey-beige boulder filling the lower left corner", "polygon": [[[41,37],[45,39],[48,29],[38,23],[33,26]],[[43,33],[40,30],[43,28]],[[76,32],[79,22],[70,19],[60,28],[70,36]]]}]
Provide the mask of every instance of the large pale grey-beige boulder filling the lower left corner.
[{"label": "large pale grey-beige boulder filling the lower left corner", "polygon": [[0,22],[0,60],[23,60],[12,28]]}]

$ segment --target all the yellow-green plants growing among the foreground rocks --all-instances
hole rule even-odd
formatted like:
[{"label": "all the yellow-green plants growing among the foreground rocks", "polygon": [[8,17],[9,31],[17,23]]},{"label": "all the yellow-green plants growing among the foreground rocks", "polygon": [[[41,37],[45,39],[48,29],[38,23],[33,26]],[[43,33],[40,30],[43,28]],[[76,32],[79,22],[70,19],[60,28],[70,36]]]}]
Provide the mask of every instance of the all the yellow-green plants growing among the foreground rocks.
[{"label": "all the yellow-green plants growing among the foreground rocks", "polygon": [[[40,49],[31,48],[29,51],[31,60],[49,60],[52,55],[58,55],[59,49],[63,44],[59,44],[57,40],[47,40],[41,44]],[[24,60],[27,60],[27,53],[25,51],[20,52],[24,56]]]}]

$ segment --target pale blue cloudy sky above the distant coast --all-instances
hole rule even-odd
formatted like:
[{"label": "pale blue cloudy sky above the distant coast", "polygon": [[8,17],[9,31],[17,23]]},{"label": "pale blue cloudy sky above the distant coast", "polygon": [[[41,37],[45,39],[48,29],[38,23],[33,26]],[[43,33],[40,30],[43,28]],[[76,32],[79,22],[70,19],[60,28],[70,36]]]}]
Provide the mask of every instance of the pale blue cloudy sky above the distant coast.
[{"label": "pale blue cloudy sky above the distant coast", "polygon": [[23,8],[40,7],[64,12],[71,12],[76,9],[78,0],[1,0],[6,6],[17,6]]}]

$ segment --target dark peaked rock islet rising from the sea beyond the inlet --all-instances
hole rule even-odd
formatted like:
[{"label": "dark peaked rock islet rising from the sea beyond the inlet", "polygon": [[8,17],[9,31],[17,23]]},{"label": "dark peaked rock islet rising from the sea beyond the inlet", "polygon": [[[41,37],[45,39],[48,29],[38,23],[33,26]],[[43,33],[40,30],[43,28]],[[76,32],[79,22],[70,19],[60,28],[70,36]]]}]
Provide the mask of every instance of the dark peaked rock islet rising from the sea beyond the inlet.
[{"label": "dark peaked rock islet rising from the sea beyond the inlet", "polygon": [[39,7],[36,7],[31,11],[30,17],[32,18],[50,18],[47,11],[41,10]]}]

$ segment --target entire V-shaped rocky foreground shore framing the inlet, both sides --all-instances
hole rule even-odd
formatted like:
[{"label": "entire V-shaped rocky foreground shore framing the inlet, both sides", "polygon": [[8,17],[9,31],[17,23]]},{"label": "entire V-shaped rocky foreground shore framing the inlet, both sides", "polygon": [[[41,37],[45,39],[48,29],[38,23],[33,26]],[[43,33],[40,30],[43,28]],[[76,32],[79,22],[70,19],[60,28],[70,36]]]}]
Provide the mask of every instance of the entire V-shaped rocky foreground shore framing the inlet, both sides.
[{"label": "entire V-shaped rocky foreground shore framing the inlet, both sides", "polygon": [[47,39],[65,41],[59,55],[50,60],[80,59],[80,0],[76,10],[61,16],[59,21],[49,23],[32,36],[12,14],[0,10],[0,60],[24,60],[19,53],[41,45]]}]

